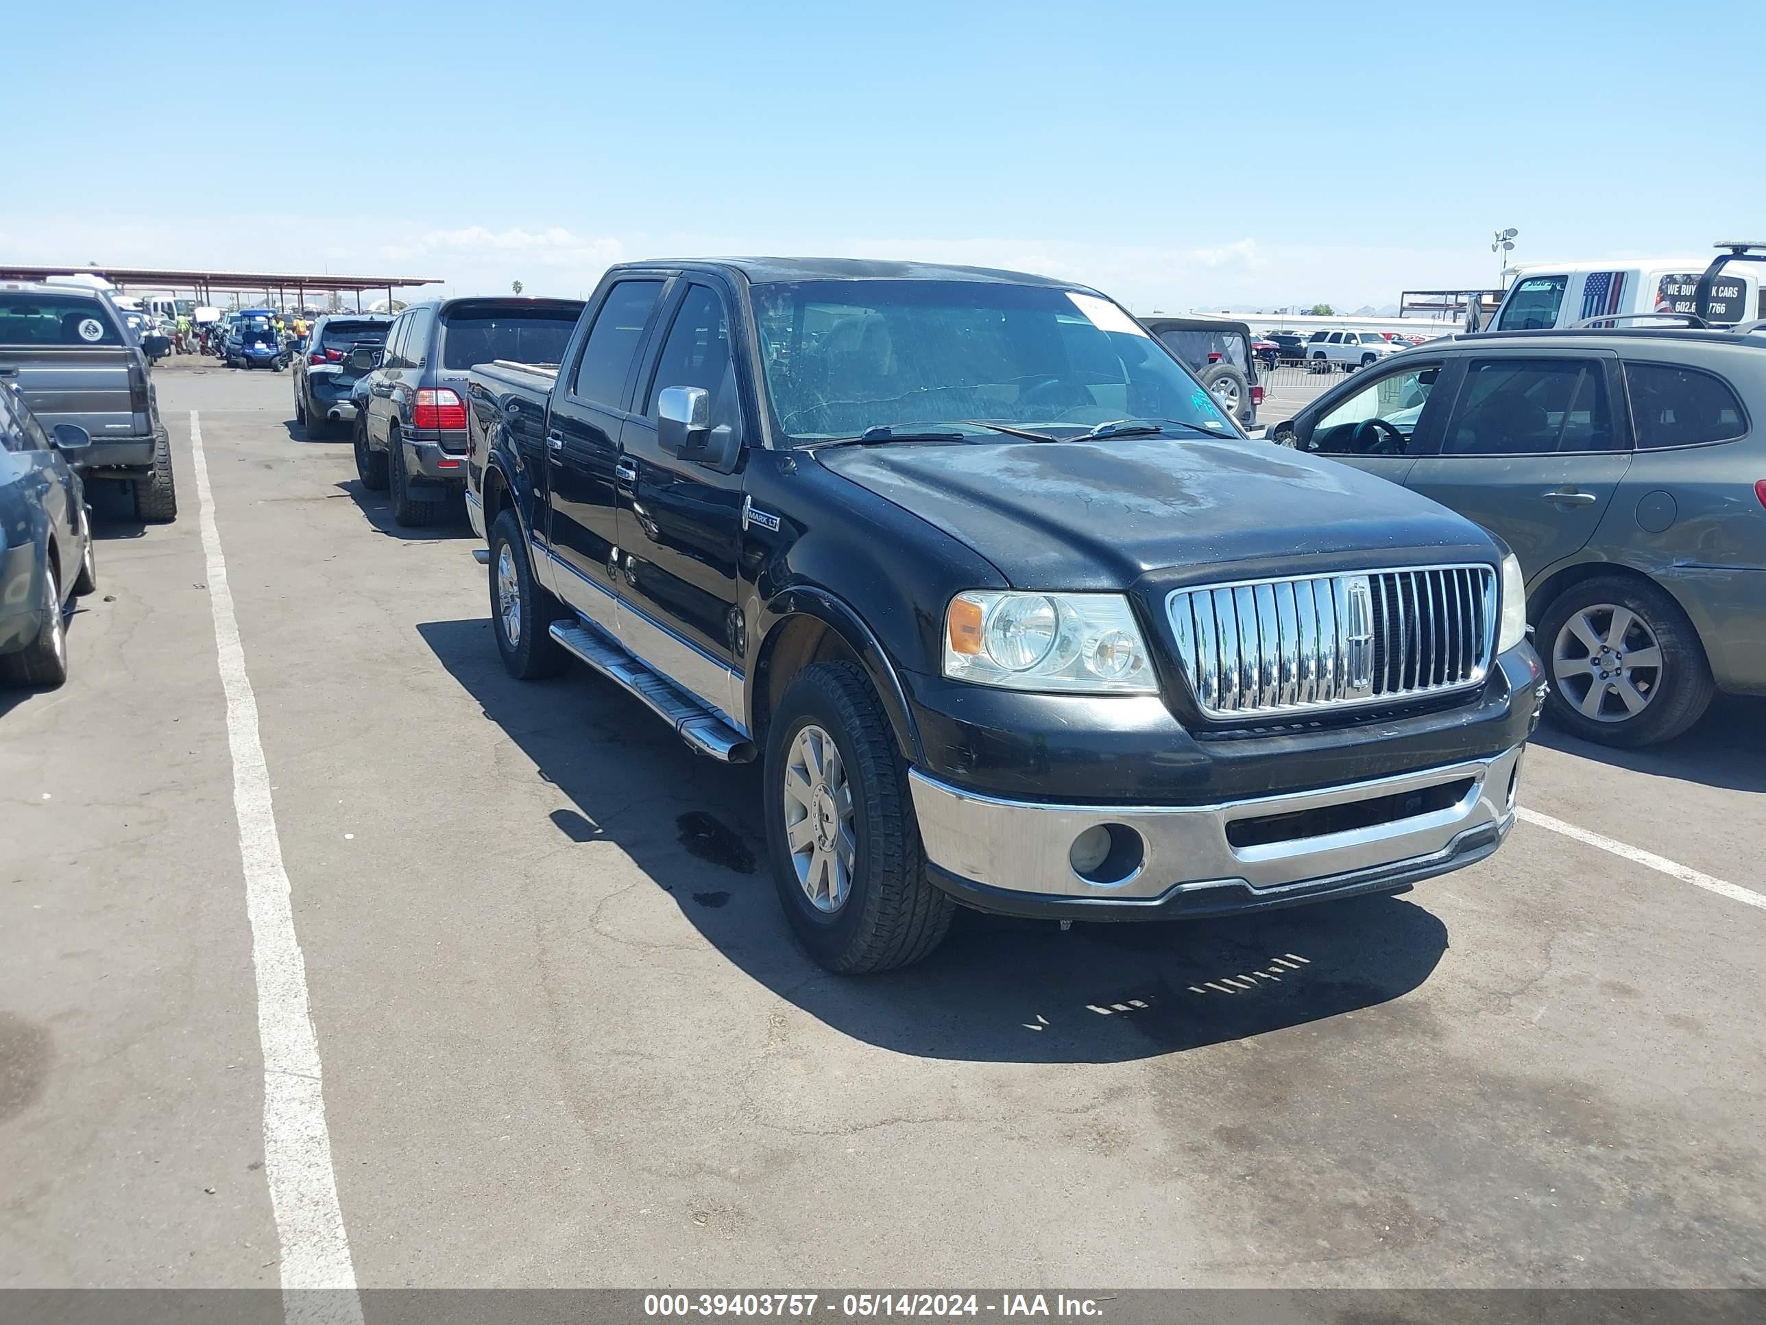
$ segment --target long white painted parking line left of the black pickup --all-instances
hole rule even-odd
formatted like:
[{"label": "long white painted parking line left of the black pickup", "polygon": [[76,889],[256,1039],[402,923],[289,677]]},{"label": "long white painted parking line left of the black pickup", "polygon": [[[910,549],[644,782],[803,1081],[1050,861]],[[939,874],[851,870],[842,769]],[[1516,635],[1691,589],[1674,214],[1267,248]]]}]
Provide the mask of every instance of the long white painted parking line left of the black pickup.
[{"label": "long white painted parking line left of the black pickup", "polygon": [[[245,650],[233,617],[233,592],[221,555],[203,428],[191,410],[191,465],[208,562],[208,606],[215,622],[226,738],[233,753],[233,813],[245,873],[251,963],[258,980],[258,1039],[263,1044],[263,1175],[270,1184],[281,1244],[283,1314],[290,1321],[360,1325],[350,1237],[337,1205],[320,1046],[307,1007],[307,965],[295,935],[288,871],[275,836],[270,774],[258,735],[258,698],[245,675]],[[304,1290],[343,1290],[311,1293]]]}]

